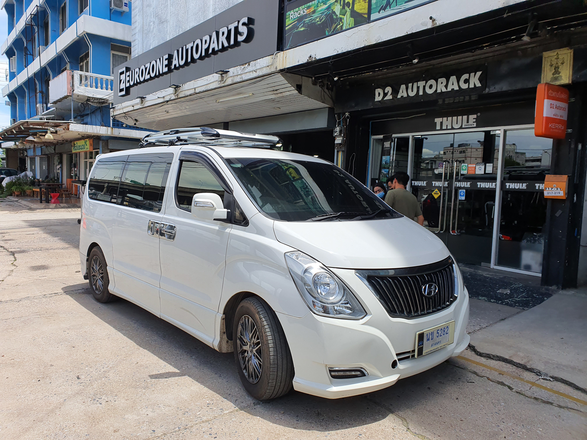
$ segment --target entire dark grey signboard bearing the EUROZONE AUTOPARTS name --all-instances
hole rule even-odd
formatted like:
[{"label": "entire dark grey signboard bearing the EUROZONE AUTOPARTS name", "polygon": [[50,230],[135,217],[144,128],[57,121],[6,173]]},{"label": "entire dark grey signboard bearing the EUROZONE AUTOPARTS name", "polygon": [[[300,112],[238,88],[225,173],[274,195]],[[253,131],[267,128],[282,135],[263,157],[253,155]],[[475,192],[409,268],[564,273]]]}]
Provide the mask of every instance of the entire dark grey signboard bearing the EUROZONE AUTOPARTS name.
[{"label": "entire dark grey signboard bearing the EUROZONE AUTOPARTS name", "polygon": [[279,2],[244,0],[117,67],[114,104],[273,55]]}]

